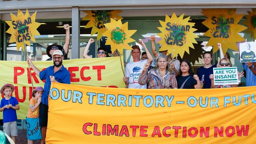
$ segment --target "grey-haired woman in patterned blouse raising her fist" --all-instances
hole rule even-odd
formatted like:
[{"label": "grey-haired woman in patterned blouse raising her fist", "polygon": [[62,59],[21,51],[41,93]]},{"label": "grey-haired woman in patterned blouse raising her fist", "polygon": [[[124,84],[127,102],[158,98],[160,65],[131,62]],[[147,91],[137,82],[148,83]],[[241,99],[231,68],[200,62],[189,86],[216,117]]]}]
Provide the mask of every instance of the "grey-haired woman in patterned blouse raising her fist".
[{"label": "grey-haired woman in patterned blouse raising her fist", "polygon": [[139,84],[148,84],[148,89],[177,89],[177,81],[166,55],[160,55],[157,65],[147,72],[150,64],[144,65]]}]

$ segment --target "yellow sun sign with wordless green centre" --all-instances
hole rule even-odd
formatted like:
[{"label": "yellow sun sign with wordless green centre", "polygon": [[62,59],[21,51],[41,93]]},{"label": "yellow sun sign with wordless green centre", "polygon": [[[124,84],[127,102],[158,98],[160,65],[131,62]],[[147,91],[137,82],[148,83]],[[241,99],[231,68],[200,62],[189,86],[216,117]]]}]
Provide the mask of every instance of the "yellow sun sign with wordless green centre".
[{"label": "yellow sun sign with wordless green centre", "polygon": [[121,20],[114,20],[111,18],[111,22],[104,24],[108,29],[103,33],[108,37],[106,45],[111,46],[111,52],[116,49],[123,54],[123,49],[132,50],[132,47],[128,44],[135,40],[130,38],[137,30],[128,30],[128,22],[122,24]]}]

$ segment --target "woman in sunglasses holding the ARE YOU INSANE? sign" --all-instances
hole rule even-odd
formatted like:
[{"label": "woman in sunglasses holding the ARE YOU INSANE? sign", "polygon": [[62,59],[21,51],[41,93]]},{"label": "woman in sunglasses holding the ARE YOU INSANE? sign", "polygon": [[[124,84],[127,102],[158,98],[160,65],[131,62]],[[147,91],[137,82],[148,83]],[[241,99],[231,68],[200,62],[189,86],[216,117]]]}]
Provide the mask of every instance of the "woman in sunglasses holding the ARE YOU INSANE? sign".
[{"label": "woman in sunglasses holding the ARE YOU INSANE? sign", "polygon": [[[223,59],[221,59],[221,61],[219,61],[219,66],[217,67],[231,67],[232,64],[230,63],[230,61],[224,57]],[[238,79],[241,79],[241,77],[243,77],[243,72],[238,72]],[[214,75],[210,74],[210,79],[211,79],[211,89],[215,89],[215,88],[230,88],[230,87],[237,87],[237,85],[214,85],[214,81],[213,81]]]}]

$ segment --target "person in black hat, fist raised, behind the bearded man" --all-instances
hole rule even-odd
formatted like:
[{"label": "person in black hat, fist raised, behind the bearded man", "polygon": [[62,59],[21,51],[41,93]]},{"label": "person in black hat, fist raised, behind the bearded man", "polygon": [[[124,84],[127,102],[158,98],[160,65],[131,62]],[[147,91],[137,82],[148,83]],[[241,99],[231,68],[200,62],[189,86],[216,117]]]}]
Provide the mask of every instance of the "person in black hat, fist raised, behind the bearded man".
[{"label": "person in black hat, fist raised, behind the bearded man", "polygon": [[64,24],[63,25],[64,29],[66,30],[66,36],[65,36],[65,44],[64,46],[60,46],[58,44],[51,44],[50,46],[47,46],[46,48],[46,54],[48,55],[48,59],[46,61],[51,61],[52,60],[52,53],[55,50],[61,50],[63,53],[64,59],[68,59],[67,55],[69,53],[69,43],[70,43],[70,31],[69,31],[69,24]]}]

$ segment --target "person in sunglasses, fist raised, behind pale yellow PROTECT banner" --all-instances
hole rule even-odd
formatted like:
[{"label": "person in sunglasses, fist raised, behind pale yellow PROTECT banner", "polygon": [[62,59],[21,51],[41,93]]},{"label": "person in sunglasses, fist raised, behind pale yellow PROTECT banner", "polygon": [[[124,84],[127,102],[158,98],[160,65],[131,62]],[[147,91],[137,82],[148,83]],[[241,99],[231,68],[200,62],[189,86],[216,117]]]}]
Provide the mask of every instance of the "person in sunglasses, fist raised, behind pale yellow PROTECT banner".
[{"label": "person in sunglasses, fist raised, behind pale yellow PROTECT banner", "polygon": [[[88,55],[88,52],[89,52],[89,47],[90,45],[94,42],[94,39],[90,38],[87,45],[85,46],[85,49],[83,50],[83,58],[85,59],[89,59],[91,58],[89,55]],[[97,55],[98,57],[109,57],[108,55],[108,52],[106,51],[105,48],[103,47],[100,47],[98,48],[97,50]]]}]

